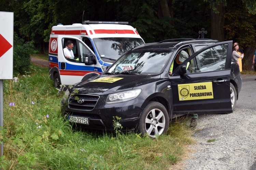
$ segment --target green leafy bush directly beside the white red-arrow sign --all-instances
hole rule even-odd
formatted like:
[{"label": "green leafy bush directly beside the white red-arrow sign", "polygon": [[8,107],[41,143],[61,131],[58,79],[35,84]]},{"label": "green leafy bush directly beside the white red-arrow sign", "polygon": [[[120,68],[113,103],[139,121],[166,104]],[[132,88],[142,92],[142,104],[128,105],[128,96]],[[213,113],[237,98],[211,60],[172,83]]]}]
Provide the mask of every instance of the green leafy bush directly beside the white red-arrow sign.
[{"label": "green leafy bush directly beside the white red-arrow sign", "polygon": [[13,46],[13,74],[25,74],[30,70],[30,54],[33,54],[34,45],[33,42],[26,42],[19,38],[14,33],[14,46]]}]

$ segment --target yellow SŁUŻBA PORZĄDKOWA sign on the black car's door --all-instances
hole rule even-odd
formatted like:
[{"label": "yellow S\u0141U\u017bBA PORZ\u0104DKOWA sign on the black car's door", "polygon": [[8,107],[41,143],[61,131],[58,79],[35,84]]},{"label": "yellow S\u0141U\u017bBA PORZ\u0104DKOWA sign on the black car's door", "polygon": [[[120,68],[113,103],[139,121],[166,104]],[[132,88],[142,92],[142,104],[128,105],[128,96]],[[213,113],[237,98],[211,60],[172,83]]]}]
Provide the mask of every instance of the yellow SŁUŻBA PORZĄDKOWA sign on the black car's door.
[{"label": "yellow S\u0141U\u017bBA PORZ\u0104DKOWA sign on the black car's door", "polygon": [[179,84],[179,100],[213,99],[212,82]]}]

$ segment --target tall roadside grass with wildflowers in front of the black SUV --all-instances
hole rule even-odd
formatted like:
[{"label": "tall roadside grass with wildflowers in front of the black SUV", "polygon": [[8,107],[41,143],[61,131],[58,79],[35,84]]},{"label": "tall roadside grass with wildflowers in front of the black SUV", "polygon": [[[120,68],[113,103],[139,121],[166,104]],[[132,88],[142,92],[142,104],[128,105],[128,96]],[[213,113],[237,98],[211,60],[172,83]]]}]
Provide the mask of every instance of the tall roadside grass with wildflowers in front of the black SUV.
[{"label": "tall roadside grass with wildflowers in front of the black SUV", "polygon": [[17,77],[4,80],[0,169],[170,169],[193,143],[182,118],[157,139],[72,128],[60,116],[62,96],[47,68],[32,65]]}]

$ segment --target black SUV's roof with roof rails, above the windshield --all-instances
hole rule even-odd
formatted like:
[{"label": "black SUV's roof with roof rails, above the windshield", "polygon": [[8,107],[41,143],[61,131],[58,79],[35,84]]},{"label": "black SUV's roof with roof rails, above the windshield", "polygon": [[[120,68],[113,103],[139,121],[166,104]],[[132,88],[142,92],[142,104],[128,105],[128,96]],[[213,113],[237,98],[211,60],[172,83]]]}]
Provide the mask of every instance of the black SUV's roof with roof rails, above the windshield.
[{"label": "black SUV's roof with roof rails, above the windshield", "polygon": [[169,49],[179,47],[186,44],[205,44],[205,43],[218,43],[218,40],[213,39],[191,39],[191,38],[179,38],[179,39],[167,39],[162,40],[158,43],[147,43],[142,44],[133,48],[132,50],[142,49]]}]

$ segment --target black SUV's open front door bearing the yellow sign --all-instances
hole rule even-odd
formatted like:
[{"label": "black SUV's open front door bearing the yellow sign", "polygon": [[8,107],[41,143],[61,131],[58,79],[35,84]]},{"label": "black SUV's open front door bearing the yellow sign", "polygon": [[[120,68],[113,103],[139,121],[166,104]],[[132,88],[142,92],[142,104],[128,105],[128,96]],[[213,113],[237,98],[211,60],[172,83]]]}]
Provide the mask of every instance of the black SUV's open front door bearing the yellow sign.
[{"label": "black SUV's open front door bearing the yellow sign", "polygon": [[174,114],[231,113],[232,41],[215,43],[183,62],[171,76]]}]

